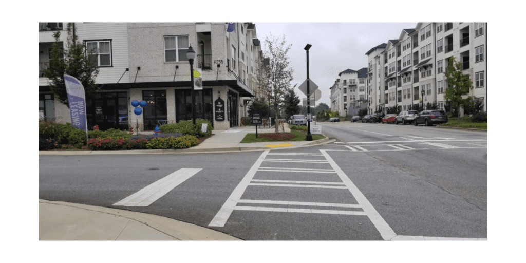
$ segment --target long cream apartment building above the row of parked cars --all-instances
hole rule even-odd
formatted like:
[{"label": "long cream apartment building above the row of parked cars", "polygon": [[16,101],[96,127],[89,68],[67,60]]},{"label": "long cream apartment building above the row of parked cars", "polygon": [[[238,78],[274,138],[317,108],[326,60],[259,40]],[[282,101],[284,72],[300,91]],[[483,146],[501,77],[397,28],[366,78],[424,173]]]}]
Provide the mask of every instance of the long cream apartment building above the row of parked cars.
[{"label": "long cream apartment building above the row of parked cars", "polygon": [[398,39],[366,53],[369,112],[387,113],[388,107],[407,110],[422,103],[437,103],[444,109],[448,87],[444,73],[452,56],[462,62],[462,73],[473,82],[466,97],[480,100],[487,111],[485,54],[487,23],[418,23],[414,29],[403,29]]}]

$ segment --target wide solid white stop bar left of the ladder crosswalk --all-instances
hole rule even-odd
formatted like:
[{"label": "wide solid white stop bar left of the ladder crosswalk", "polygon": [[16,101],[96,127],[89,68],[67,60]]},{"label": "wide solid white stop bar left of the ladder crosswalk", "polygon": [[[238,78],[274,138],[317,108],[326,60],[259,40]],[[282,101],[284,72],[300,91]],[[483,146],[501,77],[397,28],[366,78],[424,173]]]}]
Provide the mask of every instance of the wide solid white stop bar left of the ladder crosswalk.
[{"label": "wide solid white stop bar left of the ladder crosswalk", "polygon": [[183,183],[188,178],[197,174],[200,170],[197,168],[181,168],[168,176],[157,180],[155,183],[146,186],[137,193],[130,195],[114,206],[149,206],[157,199],[166,195],[169,191]]}]

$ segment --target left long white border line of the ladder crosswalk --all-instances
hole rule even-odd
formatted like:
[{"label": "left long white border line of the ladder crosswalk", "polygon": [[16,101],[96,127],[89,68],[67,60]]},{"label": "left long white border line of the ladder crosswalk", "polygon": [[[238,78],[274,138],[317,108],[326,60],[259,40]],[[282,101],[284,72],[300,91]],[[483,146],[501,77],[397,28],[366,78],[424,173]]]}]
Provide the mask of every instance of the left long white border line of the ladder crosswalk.
[{"label": "left long white border line of the ladder crosswalk", "polygon": [[248,184],[250,184],[250,180],[254,178],[254,175],[256,174],[257,170],[261,166],[261,163],[265,160],[265,157],[267,156],[269,150],[263,151],[263,153],[259,156],[259,158],[256,160],[256,163],[252,165],[250,170],[248,170],[247,174],[239,184],[237,185],[236,189],[232,191],[232,194],[228,197],[228,199],[225,201],[225,204],[219,209],[216,216],[210,221],[210,224],[208,224],[209,227],[224,227],[226,221],[232,214],[232,211],[234,211],[234,208],[237,205],[237,200],[241,199],[241,196],[247,189]]}]

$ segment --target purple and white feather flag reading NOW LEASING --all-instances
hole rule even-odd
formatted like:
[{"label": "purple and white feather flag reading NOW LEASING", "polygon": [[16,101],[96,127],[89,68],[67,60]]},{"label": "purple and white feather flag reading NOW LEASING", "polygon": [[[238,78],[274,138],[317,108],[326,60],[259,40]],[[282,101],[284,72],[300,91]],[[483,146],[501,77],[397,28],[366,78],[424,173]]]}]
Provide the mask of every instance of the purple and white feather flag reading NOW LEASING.
[{"label": "purple and white feather flag reading NOW LEASING", "polygon": [[64,82],[66,84],[67,99],[69,102],[69,111],[71,112],[71,125],[73,127],[85,130],[87,129],[86,119],[86,95],[84,94],[84,86],[78,79],[64,75]]}]

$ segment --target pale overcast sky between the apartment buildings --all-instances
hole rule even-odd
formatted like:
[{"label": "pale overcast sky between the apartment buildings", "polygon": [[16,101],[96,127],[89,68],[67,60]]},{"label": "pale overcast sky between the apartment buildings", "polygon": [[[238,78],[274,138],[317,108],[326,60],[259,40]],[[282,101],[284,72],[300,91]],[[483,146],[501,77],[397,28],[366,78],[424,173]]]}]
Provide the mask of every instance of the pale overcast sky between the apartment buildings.
[{"label": "pale overcast sky between the apartment buildings", "polygon": [[[309,50],[309,78],[321,90],[318,103],[330,106],[329,88],[338,74],[348,68],[358,70],[367,67],[366,53],[373,47],[398,39],[402,29],[414,28],[414,23],[258,23],[256,34],[264,48],[265,37],[285,35],[287,45],[292,45],[288,56],[294,68],[294,80],[298,86],[307,78],[307,44]],[[307,97],[296,87],[300,99]],[[312,105],[312,102],[311,102]]]}]

